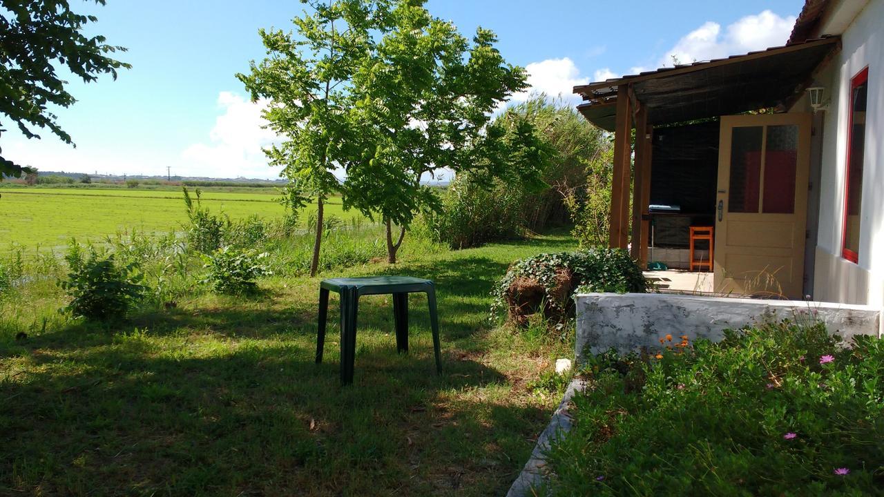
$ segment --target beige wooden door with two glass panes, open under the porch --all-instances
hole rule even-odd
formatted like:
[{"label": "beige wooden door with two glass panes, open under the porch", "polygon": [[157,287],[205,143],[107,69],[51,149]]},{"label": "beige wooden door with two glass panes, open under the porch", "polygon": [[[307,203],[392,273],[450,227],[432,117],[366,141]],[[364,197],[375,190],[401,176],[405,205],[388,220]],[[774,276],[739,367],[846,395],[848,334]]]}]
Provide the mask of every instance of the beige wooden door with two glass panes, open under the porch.
[{"label": "beige wooden door with two glass panes, open under the porch", "polygon": [[802,297],[811,115],[721,118],[714,284]]}]

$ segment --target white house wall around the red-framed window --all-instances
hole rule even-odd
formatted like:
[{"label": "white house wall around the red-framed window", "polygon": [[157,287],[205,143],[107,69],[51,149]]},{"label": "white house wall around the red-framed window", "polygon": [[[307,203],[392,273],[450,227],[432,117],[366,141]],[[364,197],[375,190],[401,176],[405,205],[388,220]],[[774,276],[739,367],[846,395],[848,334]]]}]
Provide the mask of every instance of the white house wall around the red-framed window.
[{"label": "white house wall around the red-framed window", "polygon": [[[884,0],[871,0],[841,34],[842,50],[819,81],[832,102],[823,130],[819,235],[814,294],[818,301],[884,306]],[[859,261],[841,256],[850,80],[869,67]]]}]

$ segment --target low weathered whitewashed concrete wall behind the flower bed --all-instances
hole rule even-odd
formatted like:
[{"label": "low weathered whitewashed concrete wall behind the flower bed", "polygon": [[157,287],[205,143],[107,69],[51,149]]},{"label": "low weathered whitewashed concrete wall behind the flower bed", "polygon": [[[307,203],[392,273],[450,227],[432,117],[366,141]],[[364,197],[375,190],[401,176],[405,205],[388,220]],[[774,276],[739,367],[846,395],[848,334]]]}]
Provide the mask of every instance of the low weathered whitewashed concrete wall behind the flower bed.
[{"label": "low weathered whitewashed concrete wall behind the flower bed", "polygon": [[845,340],[882,333],[880,309],[862,305],[674,294],[578,294],[575,300],[577,363],[586,353],[609,348],[621,352],[659,348],[659,339],[667,333],[717,341],[726,329],[785,318],[823,322],[830,333]]}]

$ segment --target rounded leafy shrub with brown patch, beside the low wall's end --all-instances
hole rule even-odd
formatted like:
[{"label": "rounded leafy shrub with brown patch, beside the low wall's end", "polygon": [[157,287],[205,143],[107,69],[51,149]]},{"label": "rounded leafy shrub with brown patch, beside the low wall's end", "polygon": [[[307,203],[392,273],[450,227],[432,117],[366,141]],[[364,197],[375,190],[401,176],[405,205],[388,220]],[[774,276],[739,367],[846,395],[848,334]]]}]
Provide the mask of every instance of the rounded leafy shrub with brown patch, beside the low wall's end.
[{"label": "rounded leafy shrub with brown patch, beside the low wall's end", "polygon": [[560,324],[574,313],[575,291],[637,293],[647,287],[642,270],[621,248],[538,254],[516,261],[494,287],[492,316],[506,308],[510,321],[524,325],[530,314],[543,312]]}]

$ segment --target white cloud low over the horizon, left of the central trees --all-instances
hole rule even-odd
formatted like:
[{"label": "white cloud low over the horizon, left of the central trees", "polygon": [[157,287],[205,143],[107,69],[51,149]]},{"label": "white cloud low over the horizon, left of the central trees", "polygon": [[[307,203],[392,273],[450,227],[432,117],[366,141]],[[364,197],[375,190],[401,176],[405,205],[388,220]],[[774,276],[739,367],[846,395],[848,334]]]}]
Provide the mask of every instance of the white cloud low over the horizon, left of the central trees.
[{"label": "white cloud low over the horizon, left of the central trees", "polygon": [[218,94],[217,104],[222,113],[215,119],[209,133],[209,142],[194,143],[181,153],[184,160],[181,172],[187,176],[212,178],[275,178],[278,168],[267,165],[263,149],[278,141],[261,112],[267,101],[252,103],[229,91]]}]

